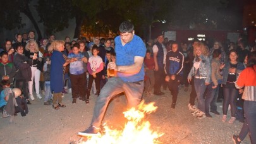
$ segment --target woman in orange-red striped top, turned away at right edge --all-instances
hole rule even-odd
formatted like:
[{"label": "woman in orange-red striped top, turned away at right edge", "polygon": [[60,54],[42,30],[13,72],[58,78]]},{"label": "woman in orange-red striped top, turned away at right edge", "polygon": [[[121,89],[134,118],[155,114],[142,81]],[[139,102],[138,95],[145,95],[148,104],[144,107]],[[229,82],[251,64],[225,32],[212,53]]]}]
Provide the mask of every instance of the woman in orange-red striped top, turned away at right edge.
[{"label": "woman in orange-red striped top, turned away at right edge", "polygon": [[235,82],[238,89],[245,87],[242,99],[245,100],[245,122],[239,135],[233,135],[235,143],[240,143],[250,133],[251,143],[256,143],[256,52],[248,54],[247,68],[240,73]]}]

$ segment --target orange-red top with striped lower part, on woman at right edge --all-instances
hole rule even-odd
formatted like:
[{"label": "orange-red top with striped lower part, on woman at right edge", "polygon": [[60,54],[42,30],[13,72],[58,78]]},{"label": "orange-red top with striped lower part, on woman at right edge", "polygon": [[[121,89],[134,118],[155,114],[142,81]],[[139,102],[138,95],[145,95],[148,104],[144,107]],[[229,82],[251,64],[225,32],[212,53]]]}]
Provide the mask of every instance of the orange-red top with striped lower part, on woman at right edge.
[{"label": "orange-red top with striped lower part, on woman at right edge", "polygon": [[235,86],[238,89],[245,87],[242,99],[256,102],[256,65],[244,69],[238,76]]}]

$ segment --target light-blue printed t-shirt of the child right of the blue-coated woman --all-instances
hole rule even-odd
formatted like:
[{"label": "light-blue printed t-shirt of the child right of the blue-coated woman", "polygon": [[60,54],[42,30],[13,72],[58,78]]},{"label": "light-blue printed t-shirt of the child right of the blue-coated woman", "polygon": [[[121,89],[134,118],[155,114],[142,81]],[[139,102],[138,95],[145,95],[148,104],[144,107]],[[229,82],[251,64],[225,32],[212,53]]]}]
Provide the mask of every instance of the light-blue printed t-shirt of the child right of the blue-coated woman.
[{"label": "light-blue printed t-shirt of the child right of the blue-coated woman", "polygon": [[77,58],[78,61],[74,61],[73,63],[70,63],[70,73],[72,75],[80,75],[85,73],[85,69],[83,68],[83,54],[79,52],[78,54],[74,54],[73,52],[68,54],[68,58]]}]

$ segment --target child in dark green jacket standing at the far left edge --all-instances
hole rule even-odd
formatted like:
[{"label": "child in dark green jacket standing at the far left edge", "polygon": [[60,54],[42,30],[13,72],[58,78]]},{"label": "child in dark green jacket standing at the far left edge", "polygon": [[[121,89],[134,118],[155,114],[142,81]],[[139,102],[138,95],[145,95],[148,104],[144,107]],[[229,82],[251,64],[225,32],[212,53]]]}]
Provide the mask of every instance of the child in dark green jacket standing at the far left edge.
[{"label": "child in dark green jacket standing at the far left edge", "polygon": [[11,81],[11,87],[13,87],[13,79],[16,75],[16,68],[8,61],[8,53],[7,52],[1,52],[1,63],[0,63],[0,78],[2,80],[9,80]]}]

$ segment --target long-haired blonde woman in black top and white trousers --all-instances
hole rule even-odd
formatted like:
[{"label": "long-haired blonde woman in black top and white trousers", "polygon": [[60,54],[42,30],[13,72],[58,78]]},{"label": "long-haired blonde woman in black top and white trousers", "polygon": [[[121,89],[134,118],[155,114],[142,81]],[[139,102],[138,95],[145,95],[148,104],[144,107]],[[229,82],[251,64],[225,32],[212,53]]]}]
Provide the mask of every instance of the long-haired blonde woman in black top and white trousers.
[{"label": "long-haired blonde woman in black top and white trousers", "polygon": [[37,98],[42,99],[39,93],[39,80],[40,80],[40,73],[42,70],[42,53],[39,51],[39,47],[35,40],[28,40],[28,43],[25,49],[26,49],[25,56],[27,56],[28,59],[32,60],[32,63],[30,63],[32,76],[31,76],[31,81],[28,81],[28,91],[30,93],[30,99],[34,100],[34,95],[33,95],[34,80],[35,80],[35,92],[37,94]]}]

